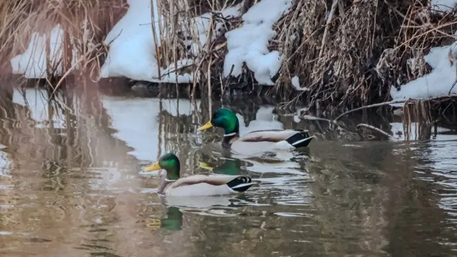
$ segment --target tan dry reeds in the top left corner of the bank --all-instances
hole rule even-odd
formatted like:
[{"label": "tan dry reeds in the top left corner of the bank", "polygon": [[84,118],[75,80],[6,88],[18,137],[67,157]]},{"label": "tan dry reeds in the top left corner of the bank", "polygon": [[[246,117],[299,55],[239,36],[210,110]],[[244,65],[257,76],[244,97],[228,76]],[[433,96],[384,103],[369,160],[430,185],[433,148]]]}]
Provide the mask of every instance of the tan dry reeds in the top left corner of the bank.
[{"label": "tan dry reeds in the top left corner of the bank", "polygon": [[[125,0],[6,0],[0,1],[0,57],[4,61],[2,74],[11,73],[9,60],[24,53],[33,33],[50,37],[51,30],[60,24],[64,30],[62,60],[54,62],[46,45],[47,78],[56,77],[56,69],[62,67],[64,76],[74,74],[73,49],[80,71],[98,76],[98,68],[107,48],[103,39],[126,12]],[[48,40],[47,40],[48,41]],[[6,72],[5,72],[6,71]],[[54,83],[55,85],[55,83]]]}]

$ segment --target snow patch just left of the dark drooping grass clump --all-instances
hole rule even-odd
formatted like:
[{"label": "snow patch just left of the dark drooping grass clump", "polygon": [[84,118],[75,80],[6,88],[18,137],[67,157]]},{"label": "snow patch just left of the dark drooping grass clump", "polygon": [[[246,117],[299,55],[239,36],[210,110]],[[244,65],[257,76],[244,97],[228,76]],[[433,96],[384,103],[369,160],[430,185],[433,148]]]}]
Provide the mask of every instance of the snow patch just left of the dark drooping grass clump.
[{"label": "snow patch just left of the dark drooping grass clump", "polygon": [[260,85],[274,85],[271,77],[278,73],[281,57],[278,51],[268,50],[269,39],[276,34],[272,26],[291,6],[292,0],[262,0],[242,16],[244,24],[225,35],[224,77],[240,76],[245,62]]}]

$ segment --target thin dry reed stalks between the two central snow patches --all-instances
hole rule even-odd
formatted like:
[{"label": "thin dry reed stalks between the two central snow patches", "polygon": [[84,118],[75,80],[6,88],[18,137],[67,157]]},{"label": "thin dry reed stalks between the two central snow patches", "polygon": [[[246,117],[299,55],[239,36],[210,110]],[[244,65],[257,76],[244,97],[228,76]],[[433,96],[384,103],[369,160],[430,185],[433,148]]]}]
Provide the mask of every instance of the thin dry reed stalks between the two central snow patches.
[{"label": "thin dry reed stalks between the two central snow patches", "polygon": [[[157,2],[159,13],[163,18],[159,21],[159,31],[153,29],[155,42],[161,43],[161,46],[156,48],[159,67],[165,68],[174,64],[174,71],[178,73],[192,71],[195,74],[192,97],[195,96],[197,87],[200,87],[203,94],[208,95],[212,95],[217,89],[222,89],[224,84],[221,78],[222,66],[226,54],[224,33],[240,26],[241,19],[224,19],[219,11],[242,3],[242,0],[158,0]],[[205,13],[210,15],[198,17]],[[201,27],[204,22],[208,24],[208,32],[207,42],[202,45],[198,27]],[[191,58],[195,60],[195,64],[179,71],[177,62],[183,58]]]}]

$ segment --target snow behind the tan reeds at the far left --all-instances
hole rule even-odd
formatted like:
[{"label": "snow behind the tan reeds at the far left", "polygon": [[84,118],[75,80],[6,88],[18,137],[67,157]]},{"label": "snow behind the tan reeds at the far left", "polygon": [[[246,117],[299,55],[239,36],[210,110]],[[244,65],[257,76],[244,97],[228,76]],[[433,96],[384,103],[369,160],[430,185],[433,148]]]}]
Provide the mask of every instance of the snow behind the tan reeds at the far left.
[{"label": "snow behind the tan reeds at the far left", "polygon": [[[50,53],[46,51],[46,35],[33,33],[26,51],[22,54],[12,57],[10,60],[13,74],[24,74],[25,78],[46,78],[46,70],[53,70],[56,67],[53,76],[62,76],[62,56],[63,56],[63,40],[64,30],[60,24],[57,24],[49,35]],[[49,55],[49,56],[48,56]],[[46,56],[49,58],[51,67],[47,67]],[[73,48],[72,65],[77,62],[77,51]]]}]

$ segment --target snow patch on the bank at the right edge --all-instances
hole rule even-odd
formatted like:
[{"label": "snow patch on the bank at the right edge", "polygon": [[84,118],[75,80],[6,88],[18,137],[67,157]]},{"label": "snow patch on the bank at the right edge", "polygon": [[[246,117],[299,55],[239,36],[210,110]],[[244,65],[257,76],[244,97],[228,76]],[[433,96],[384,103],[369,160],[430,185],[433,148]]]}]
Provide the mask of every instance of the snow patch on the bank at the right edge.
[{"label": "snow patch on the bank at the right edge", "polygon": [[[428,55],[425,55],[425,61],[430,64],[431,73],[412,80],[402,85],[400,91],[391,87],[391,96],[393,100],[412,99],[429,99],[440,96],[447,96],[449,89],[456,81],[456,65],[449,64],[449,48],[456,46],[457,42],[450,46],[439,46],[431,48]],[[457,49],[457,48],[456,48]],[[454,51],[452,51],[454,53]],[[412,61],[411,63],[413,63]],[[452,89],[451,94],[457,94],[457,86]],[[393,106],[403,106],[404,104],[393,104]]]}]

